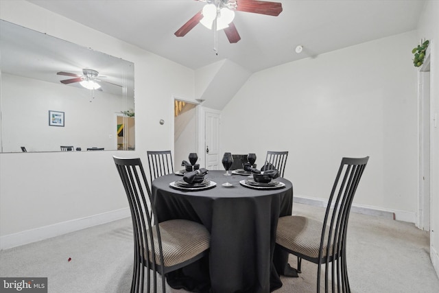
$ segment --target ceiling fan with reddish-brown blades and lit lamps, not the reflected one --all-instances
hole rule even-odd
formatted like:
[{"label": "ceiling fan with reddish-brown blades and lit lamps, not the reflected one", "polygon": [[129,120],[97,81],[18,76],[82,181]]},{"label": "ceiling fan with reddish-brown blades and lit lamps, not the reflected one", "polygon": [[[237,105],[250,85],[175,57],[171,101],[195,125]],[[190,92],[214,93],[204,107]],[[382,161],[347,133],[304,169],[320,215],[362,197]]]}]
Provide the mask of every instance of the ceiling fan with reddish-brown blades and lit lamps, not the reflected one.
[{"label": "ceiling fan with reddish-brown blades and lit lamps, not the reflected one", "polygon": [[[195,0],[206,2],[204,8],[195,14],[187,23],[182,25],[174,34],[185,36],[195,25],[202,25],[213,30],[222,30],[226,33],[230,43],[237,43],[241,36],[233,23],[235,11],[252,12],[278,16],[282,12],[282,3],[259,0]],[[215,31],[216,31],[215,30]]]}]

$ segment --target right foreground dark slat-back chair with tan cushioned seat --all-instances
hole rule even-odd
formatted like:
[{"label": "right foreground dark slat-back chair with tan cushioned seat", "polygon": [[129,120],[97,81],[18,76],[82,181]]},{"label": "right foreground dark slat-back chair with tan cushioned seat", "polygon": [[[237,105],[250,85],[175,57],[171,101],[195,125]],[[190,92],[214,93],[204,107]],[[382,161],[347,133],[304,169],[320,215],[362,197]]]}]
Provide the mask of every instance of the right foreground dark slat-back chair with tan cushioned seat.
[{"label": "right foreground dark slat-back chair with tan cushioned seat", "polygon": [[337,292],[351,292],[346,267],[346,235],[352,201],[368,159],[368,156],[342,159],[323,222],[299,215],[278,220],[276,244],[296,255],[297,272],[300,272],[302,259],[318,265],[317,292],[320,292],[322,264],[325,265],[325,292],[336,292],[335,287]]}]

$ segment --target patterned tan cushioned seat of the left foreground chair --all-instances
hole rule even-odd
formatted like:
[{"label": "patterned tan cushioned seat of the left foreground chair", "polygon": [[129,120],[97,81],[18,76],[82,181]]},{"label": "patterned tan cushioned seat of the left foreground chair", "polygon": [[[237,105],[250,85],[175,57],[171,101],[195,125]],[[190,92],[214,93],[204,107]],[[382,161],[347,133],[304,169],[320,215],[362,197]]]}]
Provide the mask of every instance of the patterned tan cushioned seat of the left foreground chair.
[{"label": "patterned tan cushioned seat of the left foreground chair", "polygon": [[[211,235],[202,224],[189,220],[169,220],[160,227],[165,266],[175,266],[202,253],[211,243]],[[149,235],[149,232],[147,232]],[[161,264],[158,253],[156,228],[153,228],[156,263]],[[152,257],[150,247],[150,257]]]}]

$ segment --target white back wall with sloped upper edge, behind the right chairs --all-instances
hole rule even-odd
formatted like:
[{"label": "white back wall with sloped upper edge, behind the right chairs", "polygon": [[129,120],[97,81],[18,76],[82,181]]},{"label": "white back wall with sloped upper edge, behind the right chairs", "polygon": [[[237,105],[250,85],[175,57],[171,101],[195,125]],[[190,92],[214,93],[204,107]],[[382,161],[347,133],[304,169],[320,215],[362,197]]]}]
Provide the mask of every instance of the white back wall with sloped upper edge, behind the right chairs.
[{"label": "white back wall with sloped upper edge, behind the right chairs", "polygon": [[370,156],[354,203],[414,222],[416,43],[407,32],[254,73],[222,112],[223,151],[261,165],[288,150],[285,177],[311,198],[328,198],[342,156]]}]

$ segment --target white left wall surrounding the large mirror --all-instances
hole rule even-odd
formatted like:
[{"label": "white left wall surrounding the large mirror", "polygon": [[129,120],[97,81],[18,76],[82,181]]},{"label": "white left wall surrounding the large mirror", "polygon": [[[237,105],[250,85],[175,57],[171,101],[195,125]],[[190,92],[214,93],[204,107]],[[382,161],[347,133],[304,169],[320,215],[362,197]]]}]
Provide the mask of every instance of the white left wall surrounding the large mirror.
[{"label": "white left wall surrounding the large mirror", "polygon": [[134,152],[0,154],[0,248],[128,216],[112,156],[171,148],[171,96],[193,99],[193,70],[27,1],[1,1],[0,19],[134,62],[136,111]]}]

